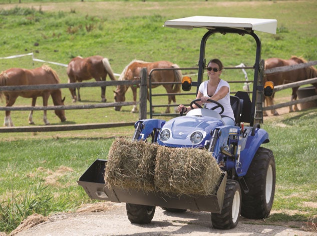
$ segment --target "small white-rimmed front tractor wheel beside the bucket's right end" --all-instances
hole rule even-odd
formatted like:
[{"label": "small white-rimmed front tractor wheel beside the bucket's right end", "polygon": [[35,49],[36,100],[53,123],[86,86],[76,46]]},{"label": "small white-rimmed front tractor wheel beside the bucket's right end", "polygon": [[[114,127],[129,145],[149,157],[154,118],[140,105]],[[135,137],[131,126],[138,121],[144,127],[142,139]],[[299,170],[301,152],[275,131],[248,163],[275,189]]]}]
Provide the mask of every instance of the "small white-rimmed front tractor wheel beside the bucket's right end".
[{"label": "small white-rimmed front tractor wheel beside the bucket's right end", "polygon": [[240,184],[227,179],[221,213],[211,213],[211,223],[214,228],[230,229],[237,226],[241,210]]}]

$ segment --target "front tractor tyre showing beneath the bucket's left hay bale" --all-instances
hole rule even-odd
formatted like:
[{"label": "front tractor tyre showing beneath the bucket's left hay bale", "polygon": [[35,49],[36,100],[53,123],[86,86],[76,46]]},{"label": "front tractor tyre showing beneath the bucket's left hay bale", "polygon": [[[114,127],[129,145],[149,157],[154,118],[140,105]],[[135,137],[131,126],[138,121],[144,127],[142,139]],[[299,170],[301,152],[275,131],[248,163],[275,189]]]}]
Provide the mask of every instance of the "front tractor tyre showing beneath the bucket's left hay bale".
[{"label": "front tractor tyre showing beneath the bucket's left hay bale", "polygon": [[126,203],[128,219],[131,223],[146,224],[152,221],[155,206]]}]

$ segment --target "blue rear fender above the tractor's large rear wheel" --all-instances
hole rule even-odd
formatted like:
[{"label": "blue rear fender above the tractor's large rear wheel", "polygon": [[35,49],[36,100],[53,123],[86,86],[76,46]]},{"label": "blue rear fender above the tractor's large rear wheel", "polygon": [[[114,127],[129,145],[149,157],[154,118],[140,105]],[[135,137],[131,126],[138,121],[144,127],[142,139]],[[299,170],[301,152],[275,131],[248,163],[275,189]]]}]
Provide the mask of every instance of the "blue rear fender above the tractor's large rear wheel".
[{"label": "blue rear fender above the tractor's large rear wheel", "polygon": [[251,132],[249,132],[245,146],[240,152],[239,162],[237,163],[236,172],[238,176],[246,174],[257,149],[262,143],[267,142],[269,142],[268,133],[264,129],[256,129],[254,135],[251,135]]}]

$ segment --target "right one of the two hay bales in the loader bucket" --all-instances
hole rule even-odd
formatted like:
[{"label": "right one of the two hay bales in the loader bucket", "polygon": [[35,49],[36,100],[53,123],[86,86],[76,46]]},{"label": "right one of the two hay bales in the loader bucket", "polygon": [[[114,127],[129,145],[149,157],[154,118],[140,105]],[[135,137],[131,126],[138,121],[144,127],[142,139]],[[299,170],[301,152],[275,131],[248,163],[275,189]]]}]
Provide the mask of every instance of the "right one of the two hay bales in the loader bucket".
[{"label": "right one of the two hay bales in the loader bucket", "polygon": [[165,146],[157,149],[154,183],[160,191],[214,194],[220,176],[217,161],[207,150]]}]

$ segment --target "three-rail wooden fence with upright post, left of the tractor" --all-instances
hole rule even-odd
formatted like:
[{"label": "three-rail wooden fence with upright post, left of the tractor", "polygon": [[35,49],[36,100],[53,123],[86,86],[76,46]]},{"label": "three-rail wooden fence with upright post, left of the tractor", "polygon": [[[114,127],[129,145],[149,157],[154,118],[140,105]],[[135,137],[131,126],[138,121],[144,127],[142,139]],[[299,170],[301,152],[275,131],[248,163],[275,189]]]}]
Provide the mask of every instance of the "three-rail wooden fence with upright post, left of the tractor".
[{"label": "three-rail wooden fence with upright post, left of the tractor", "polygon": [[[76,87],[100,87],[113,85],[139,85],[140,101],[136,103],[140,105],[139,118],[145,119],[147,112],[147,71],[146,68],[141,70],[141,79],[135,80],[113,80],[113,81],[96,81],[96,82],[77,82],[77,83],[58,83],[58,84],[40,84],[40,85],[19,85],[19,86],[0,86],[0,91],[21,91],[21,90],[43,90],[58,88],[76,88]],[[58,109],[91,109],[104,108],[114,106],[133,105],[135,102],[108,102],[102,104],[87,105],[56,105],[56,106],[22,106],[22,107],[0,107],[0,110],[58,110]],[[16,126],[16,127],[0,127],[0,132],[41,132],[41,131],[68,131],[83,130],[95,128],[109,128],[134,125],[135,122],[119,122],[119,123],[86,123],[86,124],[64,124],[64,125],[34,125],[34,126]]]}]

